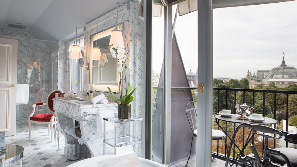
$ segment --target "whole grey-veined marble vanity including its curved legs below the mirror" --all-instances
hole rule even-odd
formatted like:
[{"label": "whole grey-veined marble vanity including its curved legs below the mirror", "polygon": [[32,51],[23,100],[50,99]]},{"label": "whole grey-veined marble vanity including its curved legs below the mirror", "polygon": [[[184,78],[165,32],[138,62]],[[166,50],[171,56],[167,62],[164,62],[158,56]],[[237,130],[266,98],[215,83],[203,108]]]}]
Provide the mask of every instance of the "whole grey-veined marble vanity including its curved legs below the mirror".
[{"label": "whole grey-veined marble vanity including its curved legs below the mirror", "polygon": [[[65,127],[73,127],[73,120],[79,122],[81,138],[83,145],[81,153],[90,152],[91,157],[103,155],[103,134],[98,133],[96,128],[97,116],[83,116],[84,112],[88,114],[97,114],[100,110],[113,110],[117,112],[117,103],[92,104],[90,100],[79,101],[74,98],[53,98],[57,121],[64,132]],[[108,132],[111,135],[112,131]],[[65,141],[72,142],[78,140],[75,135],[69,135],[64,132]],[[65,148],[67,151],[67,148]]]}]

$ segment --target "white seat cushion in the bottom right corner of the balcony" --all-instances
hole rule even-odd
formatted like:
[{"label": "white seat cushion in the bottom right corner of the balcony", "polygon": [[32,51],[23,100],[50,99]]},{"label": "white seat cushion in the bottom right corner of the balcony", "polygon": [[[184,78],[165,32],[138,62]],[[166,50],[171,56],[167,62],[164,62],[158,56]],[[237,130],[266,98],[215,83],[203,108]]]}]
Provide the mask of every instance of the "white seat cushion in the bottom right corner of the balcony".
[{"label": "white seat cushion in the bottom right corner of the balcony", "polygon": [[[285,154],[287,158],[289,159],[290,163],[294,166],[297,166],[297,149],[294,148],[275,148],[276,150],[279,150],[281,153]],[[285,162],[285,159],[280,155],[270,155],[272,158],[275,158],[281,162]]]}]

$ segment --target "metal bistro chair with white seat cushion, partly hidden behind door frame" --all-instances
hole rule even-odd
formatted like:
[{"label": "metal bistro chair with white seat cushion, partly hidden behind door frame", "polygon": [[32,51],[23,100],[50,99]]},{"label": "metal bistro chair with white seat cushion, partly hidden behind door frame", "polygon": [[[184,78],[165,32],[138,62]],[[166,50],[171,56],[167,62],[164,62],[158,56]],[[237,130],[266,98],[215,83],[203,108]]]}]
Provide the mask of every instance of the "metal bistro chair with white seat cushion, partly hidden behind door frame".
[{"label": "metal bistro chair with white seat cushion, partly hidden behind door frame", "polygon": [[[187,115],[191,130],[192,130],[192,133],[193,133],[192,142],[191,142],[191,149],[190,149],[190,155],[189,155],[189,158],[187,160],[187,165],[186,166],[188,166],[188,162],[189,162],[189,159],[191,157],[193,138],[194,138],[194,136],[197,137],[197,126],[196,126],[197,109],[195,107],[195,102],[197,102],[197,101],[191,101],[186,106],[186,115]],[[224,139],[224,138],[225,138],[225,141],[226,141],[226,135],[225,135],[224,132],[222,132],[221,130],[215,130],[215,129],[212,130],[212,140],[220,140],[220,139]],[[216,160],[213,158],[211,161],[215,162]]]}]

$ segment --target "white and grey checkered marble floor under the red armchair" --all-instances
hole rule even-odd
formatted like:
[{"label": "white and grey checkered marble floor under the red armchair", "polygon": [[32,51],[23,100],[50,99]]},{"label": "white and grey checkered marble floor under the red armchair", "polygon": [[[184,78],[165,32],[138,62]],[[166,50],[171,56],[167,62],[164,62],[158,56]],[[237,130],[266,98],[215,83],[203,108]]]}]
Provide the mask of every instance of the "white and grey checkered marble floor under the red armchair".
[{"label": "white and grey checkered marble floor under the red armchair", "polygon": [[[23,167],[65,167],[79,160],[91,157],[91,155],[81,155],[79,160],[67,160],[64,155],[65,138],[60,136],[59,150],[55,143],[50,142],[48,129],[39,129],[31,131],[31,140],[29,132],[18,132],[15,136],[5,138],[5,144],[16,144],[24,147]],[[10,167],[19,167],[15,163]]]}]

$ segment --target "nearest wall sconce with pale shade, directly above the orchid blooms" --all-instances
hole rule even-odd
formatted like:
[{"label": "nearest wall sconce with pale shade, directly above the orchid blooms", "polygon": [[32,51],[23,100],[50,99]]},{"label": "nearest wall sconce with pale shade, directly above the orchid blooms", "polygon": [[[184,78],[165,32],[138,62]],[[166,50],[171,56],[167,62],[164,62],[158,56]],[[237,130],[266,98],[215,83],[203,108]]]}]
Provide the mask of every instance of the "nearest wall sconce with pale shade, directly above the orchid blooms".
[{"label": "nearest wall sconce with pale shade, directly above the orchid blooms", "polygon": [[[116,26],[115,26],[114,30],[111,30],[109,45],[115,46],[116,43],[118,43],[120,48],[125,48],[122,30],[118,29],[118,12],[119,12],[119,5],[126,6],[127,10],[129,10],[130,9],[130,6],[129,6],[130,3],[128,3],[129,5],[124,5],[124,4],[120,4],[119,1],[118,1],[118,2],[116,2],[116,4],[117,4],[117,7],[116,7]],[[119,19],[119,20],[122,20],[122,19]]]}]

